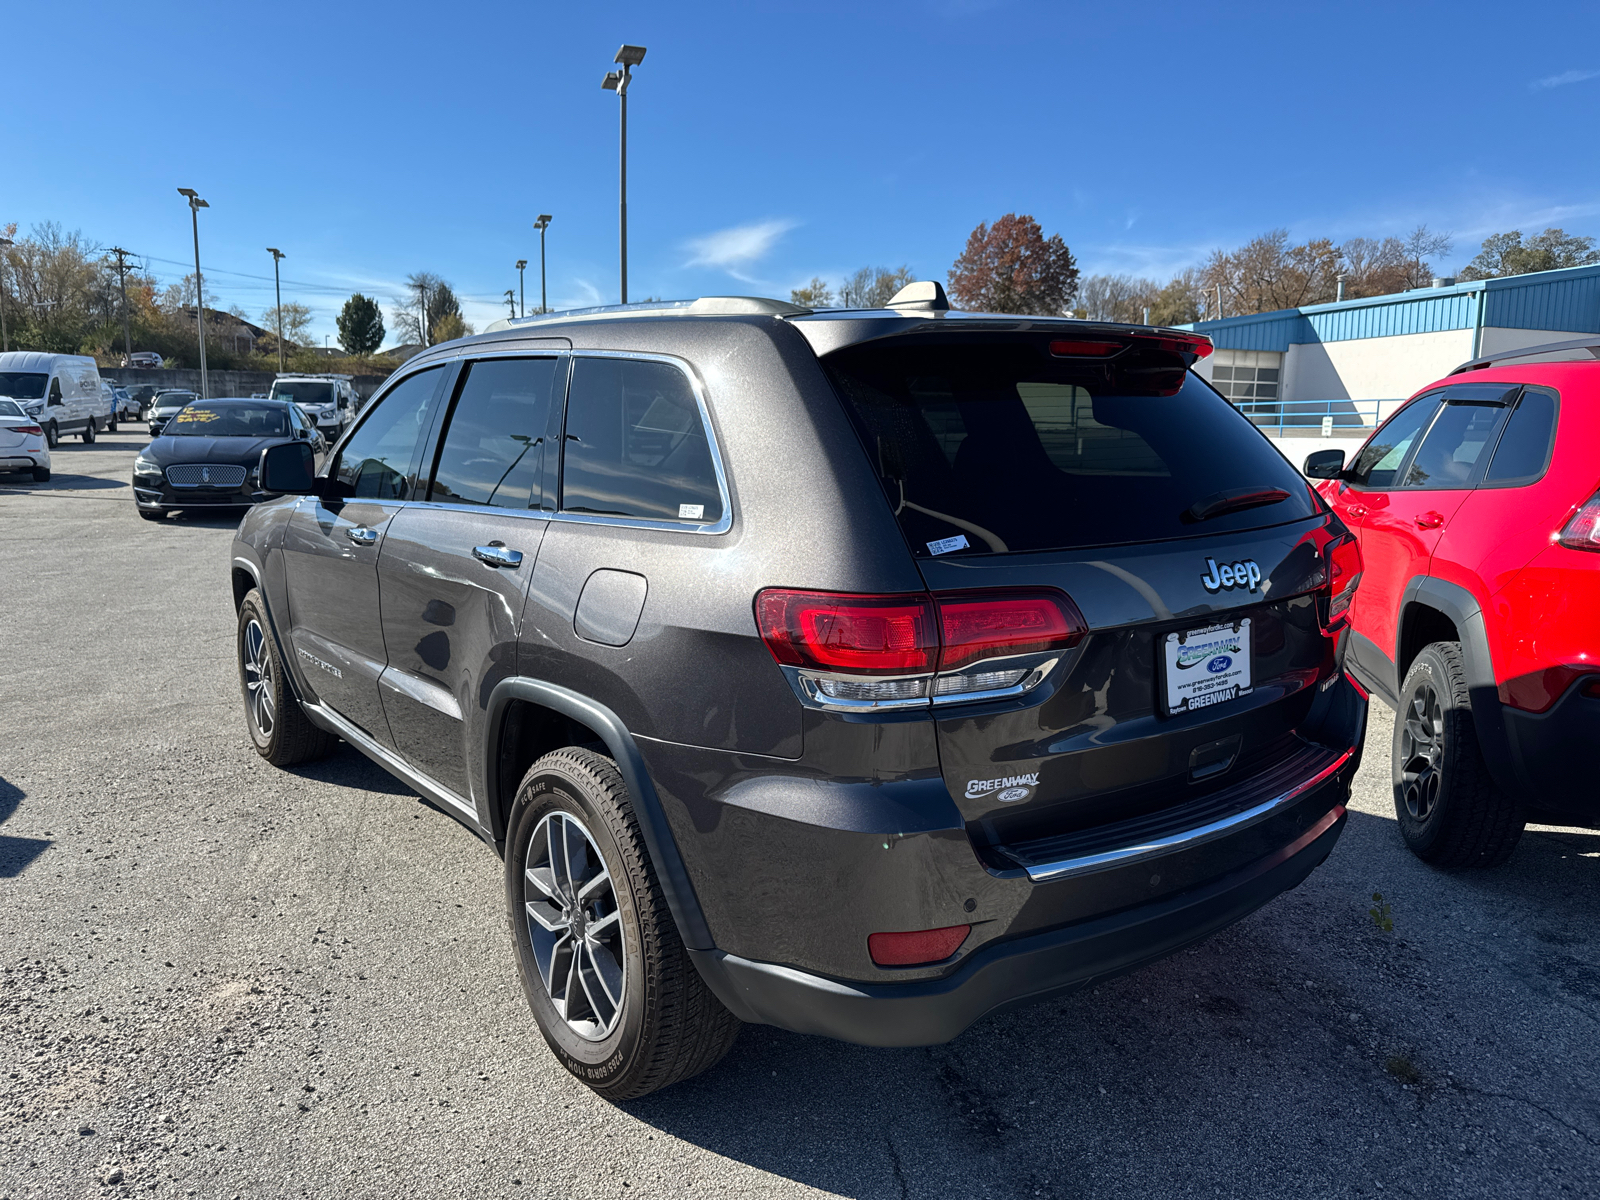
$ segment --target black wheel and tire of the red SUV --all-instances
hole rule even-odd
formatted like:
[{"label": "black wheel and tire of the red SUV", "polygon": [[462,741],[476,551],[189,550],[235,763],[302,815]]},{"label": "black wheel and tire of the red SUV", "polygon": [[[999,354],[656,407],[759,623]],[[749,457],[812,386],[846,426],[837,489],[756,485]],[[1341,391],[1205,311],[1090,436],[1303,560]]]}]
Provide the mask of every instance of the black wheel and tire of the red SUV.
[{"label": "black wheel and tire of the red SUV", "polygon": [[1526,814],[1483,762],[1461,645],[1424,646],[1400,696],[1390,762],[1405,843],[1435,867],[1506,862]]}]

